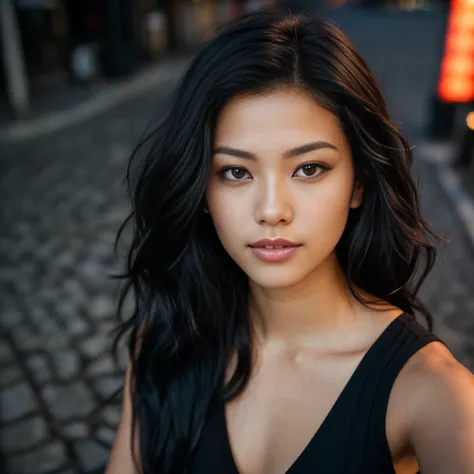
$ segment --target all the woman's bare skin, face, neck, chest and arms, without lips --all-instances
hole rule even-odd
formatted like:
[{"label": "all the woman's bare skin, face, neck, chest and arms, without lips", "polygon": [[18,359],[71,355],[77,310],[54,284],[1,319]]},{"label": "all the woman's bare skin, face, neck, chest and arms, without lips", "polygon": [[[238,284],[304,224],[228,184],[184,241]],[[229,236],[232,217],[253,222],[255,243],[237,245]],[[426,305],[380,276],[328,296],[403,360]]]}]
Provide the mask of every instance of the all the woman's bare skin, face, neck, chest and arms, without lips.
[{"label": "all the woman's bare skin, face, neck, chest and arms, without lips", "polygon": [[[284,474],[401,311],[361,305],[338,265],[334,249],[363,189],[335,116],[294,89],[238,97],[219,116],[214,150],[207,212],[249,277],[254,329],[252,376],[226,406],[227,431],[242,474]],[[267,237],[300,247],[262,262],[249,245]],[[473,380],[440,343],[408,361],[386,416],[397,474],[474,474]],[[135,472],[128,389],[123,404],[106,474]]]}]

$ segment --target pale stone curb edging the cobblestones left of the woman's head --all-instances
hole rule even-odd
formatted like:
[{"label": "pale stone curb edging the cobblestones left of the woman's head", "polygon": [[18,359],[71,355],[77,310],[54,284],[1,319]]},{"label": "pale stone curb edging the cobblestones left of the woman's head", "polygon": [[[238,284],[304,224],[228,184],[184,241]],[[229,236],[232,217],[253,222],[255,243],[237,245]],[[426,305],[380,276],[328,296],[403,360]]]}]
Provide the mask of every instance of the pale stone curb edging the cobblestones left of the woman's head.
[{"label": "pale stone curb edging the cobblestones left of the woman's head", "polygon": [[164,59],[128,81],[105,87],[97,96],[71,108],[0,127],[0,142],[38,138],[94,117],[142,92],[174,81],[184,72],[189,61],[190,57]]}]

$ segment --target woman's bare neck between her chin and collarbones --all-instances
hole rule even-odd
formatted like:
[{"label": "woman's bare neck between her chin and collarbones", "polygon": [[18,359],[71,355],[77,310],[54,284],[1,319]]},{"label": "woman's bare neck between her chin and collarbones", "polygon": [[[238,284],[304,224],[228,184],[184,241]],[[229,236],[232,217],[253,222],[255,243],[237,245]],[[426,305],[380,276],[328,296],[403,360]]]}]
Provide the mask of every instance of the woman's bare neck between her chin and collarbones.
[{"label": "woman's bare neck between her chin and collarbones", "polygon": [[250,283],[249,316],[256,337],[297,343],[355,322],[361,305],[335,255],[297,285],[268,289]]}]

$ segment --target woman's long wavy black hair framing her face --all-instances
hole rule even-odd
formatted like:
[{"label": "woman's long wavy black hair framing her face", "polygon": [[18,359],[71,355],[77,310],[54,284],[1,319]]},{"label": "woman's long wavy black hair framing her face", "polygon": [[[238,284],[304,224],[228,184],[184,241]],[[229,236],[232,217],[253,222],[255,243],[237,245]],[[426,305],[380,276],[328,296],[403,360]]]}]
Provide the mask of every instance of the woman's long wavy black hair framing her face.
[{"label": "woman's long wavy black hair framing her face", "polygon": [[[186,472],[211,407],[249,380],[248,279],[203,209],[220,110],[235,96],[281,87],[312,94],[349,140],[364,197],[336,252],[351,291],[430,320],[417,293],[434,236],[420,214],[411,149],[367,64],[329,23],[275,11],[239,18],[195,57],[144,140],[147,152],[130,162],[124,226],[133,235],[119,309],[128,295],[135,305],[119,337],[130,333],[132,432],[145,474]],[[231,355],[237,365],[224,383]]]}]

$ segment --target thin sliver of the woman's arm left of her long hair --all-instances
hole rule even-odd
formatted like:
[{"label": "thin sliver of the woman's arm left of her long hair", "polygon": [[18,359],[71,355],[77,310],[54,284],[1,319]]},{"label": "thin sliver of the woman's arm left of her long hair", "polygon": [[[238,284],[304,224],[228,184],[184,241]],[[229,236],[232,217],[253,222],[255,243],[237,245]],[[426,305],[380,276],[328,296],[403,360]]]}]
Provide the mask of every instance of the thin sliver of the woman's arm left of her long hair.
[{"label": "thin sliver of the woman's arm left of her long hair", "polygon": [[[123,390],[122,416],[105,474],[137,474],[131,450],[132,404],[130,400],[131,364],[128,365]],[[135,452],[138,452],[135,442]],[[137,457],[138,459],[138,457]]]}]

